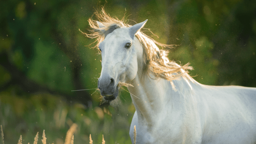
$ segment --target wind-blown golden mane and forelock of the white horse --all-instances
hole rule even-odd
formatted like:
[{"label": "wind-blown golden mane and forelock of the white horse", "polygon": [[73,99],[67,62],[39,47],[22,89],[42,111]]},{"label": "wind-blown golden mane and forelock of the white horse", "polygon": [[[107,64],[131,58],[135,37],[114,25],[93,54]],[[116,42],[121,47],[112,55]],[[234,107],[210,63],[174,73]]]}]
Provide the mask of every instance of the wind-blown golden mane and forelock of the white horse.
[{"label": "wind-blown golden mane and forelock of the white horse", "polygon": [[[89,38],[97,38],[95,42],[97,44],[92,48],[98,48],[98,45],[105,39],[107,34],[113,32],[117,28],[121,27],[130,27],[131,25],[127,24],[125,17],[122,20],[118,20],[116,17],[111,17],[106,14],[104,7],[102,7],[101,13],[97,11],[94,13],[98,21],[100,21],[102,25],[98,25],[97,21],[89,18],[88,22],[91,26],[90,33],[84,33],[86,37]],[[148,29],[149,30],[149,29]],[[149,30],[150,31],[150,30]],[[150,31],[151,32],[151,31]],[[178,65],[174,61],[170,61],[167,58],[168,50],[159,49],[160,47],[173,48],[174,45],[162,44],[155,41],[153,38],[147,36],[143,32],[139,31],[135,34],[135,36],[139,39],[140,43],[143,46],[143,55],[144,55],[144,72],[147,74],[153,74],[155,78],[163,78],[169,81],[179,79],[181,76],[183,78],[191,79],[187,74],[187,70],[192,70],[192,66],[188,66],[190,63],[187,63],[183,66]],[[94,43],[95,43],[94,42]],[[158,46],[156,46],[156,44]],[[173,83],[172,83],[173,84]]]}]

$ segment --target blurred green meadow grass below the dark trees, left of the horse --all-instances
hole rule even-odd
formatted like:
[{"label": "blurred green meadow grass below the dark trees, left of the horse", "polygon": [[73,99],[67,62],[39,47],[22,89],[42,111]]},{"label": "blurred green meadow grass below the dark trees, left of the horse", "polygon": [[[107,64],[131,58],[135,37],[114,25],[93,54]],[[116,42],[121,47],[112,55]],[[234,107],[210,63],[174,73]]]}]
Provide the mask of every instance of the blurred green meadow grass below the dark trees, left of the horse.
[{"label": "blurred green meadow grass below the dark trees, left of the horse", "polygon": [[102,142],[102,134],[108,143],[130,143],[129,127],[135,111],[131,105],[102,109],[97,106],[85,108],[75,103],[67,105],[60,98],[49,94],[30,95],[30,98],[1,92],[0,119],[5,143],[17,143],[22,135],[23,143],[32,143],[37,132],[46,131],[48,143],[63,143],[66,132],[73,123],[78,125],[75,143]]}]

